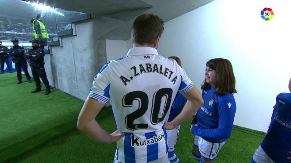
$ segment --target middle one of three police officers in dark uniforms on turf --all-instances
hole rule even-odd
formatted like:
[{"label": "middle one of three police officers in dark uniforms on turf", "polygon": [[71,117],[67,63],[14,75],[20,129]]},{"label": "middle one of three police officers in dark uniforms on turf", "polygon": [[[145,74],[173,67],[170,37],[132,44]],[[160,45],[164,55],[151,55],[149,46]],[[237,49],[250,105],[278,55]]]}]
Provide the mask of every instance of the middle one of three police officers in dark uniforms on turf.
[{"label": "middle one of three police officers in dark uniforms on turf", "polygon": [[31,83],[31,77],[27,71],[27,62],[24,59],[24,47],[18,45],[18,40],[14,39],[11,41],[13,43],[13,47],[10,48],[9,54],[13,56],[12,62],[15,63],[15,68],[17,71],[17,79],[18,83],[22,83],[22,76],[21,76],[21,68],[23,69],[25,76],[27,78],[28,83]]}]

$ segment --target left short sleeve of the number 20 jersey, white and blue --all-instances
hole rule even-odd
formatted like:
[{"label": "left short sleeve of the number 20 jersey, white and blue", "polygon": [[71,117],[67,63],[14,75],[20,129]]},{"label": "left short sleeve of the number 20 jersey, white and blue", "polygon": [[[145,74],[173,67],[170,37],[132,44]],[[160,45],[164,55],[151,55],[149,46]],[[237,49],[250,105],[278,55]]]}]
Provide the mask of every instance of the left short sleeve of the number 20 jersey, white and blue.
[{"label": "left short sleeve of the number 20 jersey, white and blue", "polygon": [[99,102],[106,104],[110,99],[110,79],[111,70],[108,67],[108,63],[101,68],[99,73],[93,79],[93,86],[90,88],[88,97],[98,100]]}]

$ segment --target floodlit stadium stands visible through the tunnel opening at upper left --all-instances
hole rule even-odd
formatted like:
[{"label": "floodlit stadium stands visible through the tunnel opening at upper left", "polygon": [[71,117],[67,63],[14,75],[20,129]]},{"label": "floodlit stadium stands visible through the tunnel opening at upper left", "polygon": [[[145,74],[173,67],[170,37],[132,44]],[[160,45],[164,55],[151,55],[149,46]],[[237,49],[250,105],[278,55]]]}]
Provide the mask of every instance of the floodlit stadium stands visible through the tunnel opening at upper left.
[{"label": "floodlit stadium stands visible through the tunnel opening at upper left", "polygon": [[57,32],[71,29],[71,17],[83,14],[19,0],[1,0],[0,10],[0,40],[9,47],[12,39],[18,39],[20,45],[31,45],[29,41],[35,39],[32,22],[38,14],[38,20],[46,27],[48,42],[59,40]]}]

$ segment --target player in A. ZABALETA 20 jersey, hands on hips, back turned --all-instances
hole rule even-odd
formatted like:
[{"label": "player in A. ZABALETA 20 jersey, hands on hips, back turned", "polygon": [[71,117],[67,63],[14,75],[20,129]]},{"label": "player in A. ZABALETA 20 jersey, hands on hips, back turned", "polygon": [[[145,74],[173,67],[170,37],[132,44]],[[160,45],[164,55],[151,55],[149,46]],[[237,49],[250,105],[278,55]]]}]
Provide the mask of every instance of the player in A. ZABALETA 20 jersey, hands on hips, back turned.
[{"label": "player in A. ZABALETA 20 jersey, hands on hips, back turned", "polygon": [[[114,163],[168,162],[166,129],[190,119],[203,104],[198,89],[176,61],[158,55],[163,24],[154,14],[135,19],[133,48],[126,57],[111,60],[101,68],[80,111],[80,131],[95,141],[117,141]],[[165,124],[178,91],[190,106]],[[117,131],[111,134],[95,120],[108,100],[117,125]]]}]

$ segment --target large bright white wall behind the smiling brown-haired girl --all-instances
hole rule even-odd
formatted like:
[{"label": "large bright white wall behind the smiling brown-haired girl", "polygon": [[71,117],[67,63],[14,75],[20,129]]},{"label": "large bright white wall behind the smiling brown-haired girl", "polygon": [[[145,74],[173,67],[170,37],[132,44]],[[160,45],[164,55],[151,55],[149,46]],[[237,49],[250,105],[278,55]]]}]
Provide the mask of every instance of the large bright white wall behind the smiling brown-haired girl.
[{"label": "large bright white wall behind the smiling brown-haired girl", "polygon": [[[198,88],[209,59],[229,59],[238,90],[234,124],[267,131],[276,95],[288,92],[291,77],[289,6],[287,0],[215,0],[165,23],[158,52],[179,56]],[[265,7],[274,11],[270,21],[260,17]]]}]

